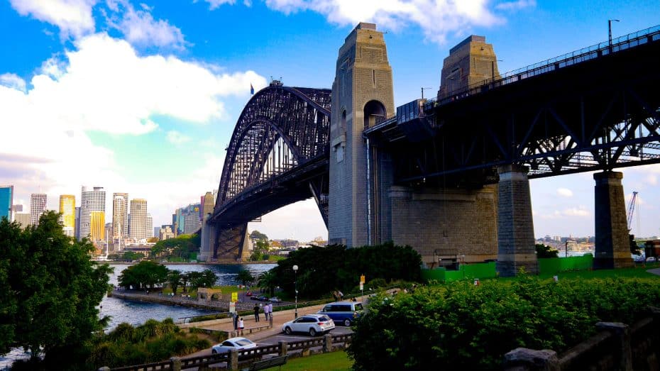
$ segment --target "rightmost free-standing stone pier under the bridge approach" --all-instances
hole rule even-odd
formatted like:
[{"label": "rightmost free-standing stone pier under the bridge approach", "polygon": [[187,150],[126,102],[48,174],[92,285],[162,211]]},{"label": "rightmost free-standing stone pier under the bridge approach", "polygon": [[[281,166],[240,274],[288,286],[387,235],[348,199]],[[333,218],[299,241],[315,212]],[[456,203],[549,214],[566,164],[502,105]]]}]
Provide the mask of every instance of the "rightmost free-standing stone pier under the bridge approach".
[{"label": "rightmost free-standing stone pier under the bridge approach", "polygon": [[621,172],[598,172],[593,175],[595,252],[594,269],[632,267],[628,223]]}]

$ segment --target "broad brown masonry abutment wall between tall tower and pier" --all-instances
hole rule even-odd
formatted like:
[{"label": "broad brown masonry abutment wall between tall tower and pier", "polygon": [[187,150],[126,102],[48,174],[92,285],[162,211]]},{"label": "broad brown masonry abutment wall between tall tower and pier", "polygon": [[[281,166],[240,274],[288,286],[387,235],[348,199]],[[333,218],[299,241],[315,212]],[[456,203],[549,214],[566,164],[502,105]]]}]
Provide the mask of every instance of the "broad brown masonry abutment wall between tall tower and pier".
[{"label": "broad brown masonry abutment wall between tall tower and pier", "polygon": [[391,233],[410,245],[429,268],[497,257],[497,188],[390,187]]}]

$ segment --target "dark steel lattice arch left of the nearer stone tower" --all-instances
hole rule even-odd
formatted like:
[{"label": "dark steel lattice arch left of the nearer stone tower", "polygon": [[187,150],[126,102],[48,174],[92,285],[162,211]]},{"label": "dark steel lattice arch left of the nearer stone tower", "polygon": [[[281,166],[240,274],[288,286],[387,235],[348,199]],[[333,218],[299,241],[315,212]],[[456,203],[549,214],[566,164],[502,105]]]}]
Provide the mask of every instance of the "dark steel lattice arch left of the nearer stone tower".
[{"label": "dark steel lattice arch left of the nearer stone tower", "polygon": [[273,83],[248,101],[226,148],[212,220],[264,184],[328,156],[330,94]]}]

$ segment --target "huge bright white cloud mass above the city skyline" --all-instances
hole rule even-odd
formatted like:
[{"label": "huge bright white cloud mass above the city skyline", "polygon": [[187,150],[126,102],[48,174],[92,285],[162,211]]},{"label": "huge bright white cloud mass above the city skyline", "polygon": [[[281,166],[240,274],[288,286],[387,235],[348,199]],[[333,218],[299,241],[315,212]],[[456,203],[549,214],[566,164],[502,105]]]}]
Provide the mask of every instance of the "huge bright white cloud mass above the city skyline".
[{"label": "huge bright white cloud mass above the city skyline", "polygon": [[0,179],[14,184],[17,196],[45,192],[49,207],[57,209],[59,194],[102,185],[107,192],[150,199],[155,223],[165,223],[174,207],[217,187],[222,162],[213,155],[204,156],[200,169],[186,169],[180,182],[125,179],[128,167],[140,165],[118,162],[114,150],[93,143],[88,132],[140,135],[155,130],[161,117],[170,126],[217,123],[227,118],[226,99],[247,99],[250,83],[265,87],[264,77],[214,72],[223,69],[172,56],[139,56],[129,43],[106,34],[77,40],[75,48],[45,61],[26,88],[16,75],[3,75],[0,123],[3,138],[13,139],[0,146]]}]

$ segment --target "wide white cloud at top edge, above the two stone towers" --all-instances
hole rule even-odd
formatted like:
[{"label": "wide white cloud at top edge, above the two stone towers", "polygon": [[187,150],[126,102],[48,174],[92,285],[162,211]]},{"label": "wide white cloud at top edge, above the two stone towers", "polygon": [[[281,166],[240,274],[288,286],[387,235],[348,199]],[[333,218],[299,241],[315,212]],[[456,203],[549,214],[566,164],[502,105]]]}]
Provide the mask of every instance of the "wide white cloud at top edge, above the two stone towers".
[{"label": "wide white cloud at top edge, above the two stone towers", "polygon": [[[528,1],[528,6],[533,2]],[[465,28],[503,23],[504,18],[488,9],[488,3],[488,0],[265,0],[270,9],[286,14],[316,11],[342,26],[373,22],[381,29],[397,31],[417,25],[435,43],[444,43],[446,35]]]}]

